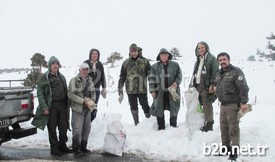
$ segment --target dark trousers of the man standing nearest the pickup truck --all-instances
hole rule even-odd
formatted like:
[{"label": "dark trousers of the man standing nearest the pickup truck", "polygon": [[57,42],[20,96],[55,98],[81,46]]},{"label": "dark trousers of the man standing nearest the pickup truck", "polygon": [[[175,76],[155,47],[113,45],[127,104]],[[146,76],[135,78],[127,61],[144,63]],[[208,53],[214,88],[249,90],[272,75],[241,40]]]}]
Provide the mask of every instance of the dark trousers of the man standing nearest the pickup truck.
[{"label": "dark trousers of the man standing nearest the pickup truck", "polygon": [[[67,136],[67,117],[65,102],[52,102],[50,108],[49,121],[47,124],[51,150],[55,151],[59,147],[65,147],[68,141]],[[56,128],[59,131],[59,140],[57,138]]]}]

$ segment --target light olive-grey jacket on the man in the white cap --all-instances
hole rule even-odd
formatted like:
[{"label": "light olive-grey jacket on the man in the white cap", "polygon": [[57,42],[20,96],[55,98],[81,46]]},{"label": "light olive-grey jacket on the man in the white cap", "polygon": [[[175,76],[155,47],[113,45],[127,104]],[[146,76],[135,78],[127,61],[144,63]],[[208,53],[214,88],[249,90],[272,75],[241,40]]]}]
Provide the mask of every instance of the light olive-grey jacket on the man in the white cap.
[{"label": "light olive-grey jacket on the man in the white cap", "polygon": [[[71,101],[72,111],[82,113],[83,111],[83,103],[84,103],[84,85],[83,79],[78,74],[74,78],[70,80],[69,89],[68,89],[68,97]],[[88,86],[88,92],[90,93],[91,99],[95,102],[95,87],[93,84],[93,80],[91,77],[88,77],[87,81],[90,85]]]}]

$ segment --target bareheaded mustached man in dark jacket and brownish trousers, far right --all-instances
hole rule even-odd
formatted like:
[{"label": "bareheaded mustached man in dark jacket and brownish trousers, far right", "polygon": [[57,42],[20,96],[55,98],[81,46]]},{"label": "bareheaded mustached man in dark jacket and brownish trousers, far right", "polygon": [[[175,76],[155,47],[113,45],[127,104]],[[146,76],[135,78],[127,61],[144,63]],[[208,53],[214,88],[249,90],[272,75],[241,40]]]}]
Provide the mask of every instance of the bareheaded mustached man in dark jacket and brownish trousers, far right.
[{"label": "bareheaded mustached man in dark jacket and brownish trousers, far right", "polygon": [[222,52],[217,59],[221,66],[216,75],[216,95],[221,102],[222,145],[227,148],[227,153],[230,153],[229,160],[236,160],[240,146],[238,112],[244,112],[248,108],[249,88],[242,70],[230,64],[229,54]]}]

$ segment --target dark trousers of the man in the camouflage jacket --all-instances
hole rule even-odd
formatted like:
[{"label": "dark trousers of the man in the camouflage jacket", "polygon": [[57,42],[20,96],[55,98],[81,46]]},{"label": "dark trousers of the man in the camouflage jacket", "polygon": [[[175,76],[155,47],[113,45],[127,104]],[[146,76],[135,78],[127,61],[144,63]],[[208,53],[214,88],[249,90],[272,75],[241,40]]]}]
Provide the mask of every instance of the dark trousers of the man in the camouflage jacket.
[{"label": "dark trousers of the man in the camouflage jacket", "polygon": [[[147,94],[128,94],[131,110],[138,111],[138,101],[144,113],[149,113],[150,106],[148,104]],[[138,100],[138,101],[137,101]]]}]

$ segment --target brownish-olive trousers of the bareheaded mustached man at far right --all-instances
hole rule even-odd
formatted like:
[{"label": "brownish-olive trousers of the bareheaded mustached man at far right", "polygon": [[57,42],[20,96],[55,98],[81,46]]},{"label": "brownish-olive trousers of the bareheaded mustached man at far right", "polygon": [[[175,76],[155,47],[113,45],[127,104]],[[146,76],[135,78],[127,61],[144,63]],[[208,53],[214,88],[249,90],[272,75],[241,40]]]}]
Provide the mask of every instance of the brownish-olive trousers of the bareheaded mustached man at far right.
[{"label": "brownish-olive trousers of the bareheaded mustached man at far right", "polygon": [[222,144],[225,146],[239,146],[240,144],[240,128],[237,119],[237,104],[221,105],[220,109],[220,129]]}]

